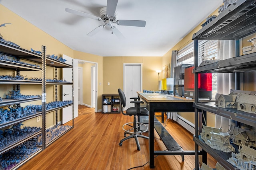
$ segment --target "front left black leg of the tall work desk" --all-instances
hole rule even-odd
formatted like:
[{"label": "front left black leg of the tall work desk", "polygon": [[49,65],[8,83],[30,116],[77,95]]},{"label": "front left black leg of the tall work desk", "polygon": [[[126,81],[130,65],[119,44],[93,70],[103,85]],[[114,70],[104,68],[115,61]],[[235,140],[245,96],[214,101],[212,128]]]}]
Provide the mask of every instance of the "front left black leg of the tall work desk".
[{"label": "front left black leg of the tall work desk", "polygon": [[149,167],[155,168],[154,165],[154,107],[150,106],[149,104],[149,116],[148,116],[148,146],[149,146]]}]

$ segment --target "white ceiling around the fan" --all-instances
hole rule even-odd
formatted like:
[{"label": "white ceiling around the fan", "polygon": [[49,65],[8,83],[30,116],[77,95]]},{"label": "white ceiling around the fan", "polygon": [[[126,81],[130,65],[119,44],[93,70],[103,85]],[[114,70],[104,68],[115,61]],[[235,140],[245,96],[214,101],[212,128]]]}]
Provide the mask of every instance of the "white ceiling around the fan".
[{"label": "white ceiling around the fan", "polygon": [[107,0],[0,0],[0,4],[76,51],[100,56],[163,56],[222,0],[119,0],[117,20],[146,21],[146,27],[115,24],[123,40],[106,28],[89,37],[86,34],[103,22],[65,12],[67,7],[100,16]]}]

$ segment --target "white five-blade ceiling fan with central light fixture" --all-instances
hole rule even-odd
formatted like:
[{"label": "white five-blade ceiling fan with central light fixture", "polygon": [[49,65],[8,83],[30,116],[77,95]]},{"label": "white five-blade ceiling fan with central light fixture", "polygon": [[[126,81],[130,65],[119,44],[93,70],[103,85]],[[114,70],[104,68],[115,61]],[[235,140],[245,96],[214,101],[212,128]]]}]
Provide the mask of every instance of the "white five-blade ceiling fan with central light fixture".
[{"label": "white five-blade ceiling fan with central light fixture", "polygon": [[142,20],[116,20],[117,18],[117,12],[116,12],[116,6],[117,6],[118,0],[108,0],[107,7],[103,7],[100,9],[100,17],[93,16],[91,14],[87,14],[85,12],[73,10],[70,8],[66,8],[65,11],[78,15],[83,16],[87,18],[91,18],[98,21],[103,21],[104,25],[100,25],[96,27],[94,30],[89,32],[88,36],[93,36],[96,33],[98,33],[100,30],[104,29],[105,27],[110,27],[112,34],[114,33],[119,39],[124,39],[124,36],[122,33],[115,27],[113,24],[117,25],[126,25],[126,26],[135,26],[135,27],[145,27],[146,21]]}]

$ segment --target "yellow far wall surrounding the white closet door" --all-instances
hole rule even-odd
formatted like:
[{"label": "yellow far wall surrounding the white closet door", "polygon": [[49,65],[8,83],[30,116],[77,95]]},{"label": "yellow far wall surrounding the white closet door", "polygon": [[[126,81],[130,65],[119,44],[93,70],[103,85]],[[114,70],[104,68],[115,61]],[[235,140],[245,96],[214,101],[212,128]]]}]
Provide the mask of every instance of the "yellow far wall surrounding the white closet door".
[{"label": "yellow far wall surrounding the white closet door", "polygon": [[103,57],[103,93],[118,93],[118,88],[123,89],[124,63],[142,63],[142,89],[157,90],[156,70],[162,70],[162,57]]}]

